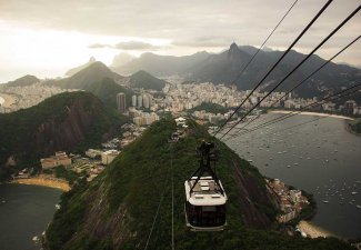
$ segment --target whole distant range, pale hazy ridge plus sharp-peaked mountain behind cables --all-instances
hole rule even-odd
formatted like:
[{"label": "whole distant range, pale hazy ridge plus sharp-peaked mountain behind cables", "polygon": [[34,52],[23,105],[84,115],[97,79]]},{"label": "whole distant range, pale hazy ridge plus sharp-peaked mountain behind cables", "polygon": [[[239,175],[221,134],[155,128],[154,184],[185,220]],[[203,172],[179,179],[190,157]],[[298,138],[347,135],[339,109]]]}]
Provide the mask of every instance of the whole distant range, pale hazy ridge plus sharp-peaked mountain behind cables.
[{"label": "whole distant range, pale hazy ridge plus sharp-peaked mountain behind cables", "polygon": [[[239,89],[247,90],[252,89],[283,53],[283,51],[270,49],[261,50],[242,77],[233,82],[257,50],[257,48],[251,46],[238,47],[235,43],[232,43],[228,50],[217,54],[200,52],[188,57],[169,57],[144,53],[139,59],[120,68],[119,72],[121,70],[133,72],[146,70],[154,76],[179,74],[187,82],[210,81],[225,84],[235,83]],[[294,50],[290,51],[265,79],[260,90],[269,91],[304,57],[305,54]],[[324,61],[324,59],[318,56],[312,56],[280,86],[278,91],[291,89]],[[324,92],[332,92],[343,87],[350,87],[352,83],[348,82],[351,79],[361,79],[361,70],[347,64],[331,62],[298,88],[295,93],[303,98],[323,96],[325,94]]]}]

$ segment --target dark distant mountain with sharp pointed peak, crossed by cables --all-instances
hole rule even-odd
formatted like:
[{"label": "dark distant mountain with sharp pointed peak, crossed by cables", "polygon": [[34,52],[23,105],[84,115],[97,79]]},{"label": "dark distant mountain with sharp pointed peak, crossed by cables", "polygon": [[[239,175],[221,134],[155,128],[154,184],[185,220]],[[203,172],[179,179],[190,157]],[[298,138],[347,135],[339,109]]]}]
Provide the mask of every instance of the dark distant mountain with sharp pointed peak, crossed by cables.
[{"label": "dark distant mountain with sharp pointed peak, crossed by cables", "polygon": [[[228,51],[220,54],[210,56],[207,60],[193,67],[188,81],[212,81],[215,83],[231,83],[237,79],[241,69],[243,69],[252,54],[257,52],[253,47],[238,47],[231,44]],[[254,61],[248,67],[243,76],[238,78],[235,84],[239,89],[252,89],[274,62],[281,57],[283,51],[263,51],[261,50]],[[263,81],[261,90],[269,91],[283,77],[287,76],[305,54],[291,50],[272,73]],[[325,60],[318,56],[312,56],[302,67],[300,67],[291,77],[280,86],[278,91],[285,91],[305,79],[313,70],[320,67]],[[329,89],[339,90],[341,87],[349,86],[349,80],[359,77],[361,70],[337,63],[329,63],[321,71],[314,74],[310,80],[295,90],[301,97],[320,96]]]}]

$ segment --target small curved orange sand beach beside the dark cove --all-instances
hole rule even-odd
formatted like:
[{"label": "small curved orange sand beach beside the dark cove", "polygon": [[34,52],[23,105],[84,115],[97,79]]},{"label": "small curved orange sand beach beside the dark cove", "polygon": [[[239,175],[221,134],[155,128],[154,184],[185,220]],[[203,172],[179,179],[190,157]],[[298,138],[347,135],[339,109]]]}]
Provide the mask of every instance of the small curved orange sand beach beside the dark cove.
[{"label": "small curved orange sand beach beside the dark cove", "polygon": [[68,181],[64,181],[62,179],[57,179],[53,177],[46,177],[46,176],[38,176],[34,178],[14,179],[14,180],[9,181],[9,183],[42,186],[42,187],[61,189],[64,192],[68,192],[71,189]]}]

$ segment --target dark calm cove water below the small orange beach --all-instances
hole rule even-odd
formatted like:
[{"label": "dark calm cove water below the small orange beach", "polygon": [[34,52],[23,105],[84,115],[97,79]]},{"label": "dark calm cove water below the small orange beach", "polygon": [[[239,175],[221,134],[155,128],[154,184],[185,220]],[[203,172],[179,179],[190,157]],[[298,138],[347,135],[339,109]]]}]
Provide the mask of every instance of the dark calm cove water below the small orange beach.
[{"label": "dark calm cove water below the small orange beach", "polygon": [[61,192],[47,187],[0,184],[0,249],[39,250],[37,239],[51,221]]}]

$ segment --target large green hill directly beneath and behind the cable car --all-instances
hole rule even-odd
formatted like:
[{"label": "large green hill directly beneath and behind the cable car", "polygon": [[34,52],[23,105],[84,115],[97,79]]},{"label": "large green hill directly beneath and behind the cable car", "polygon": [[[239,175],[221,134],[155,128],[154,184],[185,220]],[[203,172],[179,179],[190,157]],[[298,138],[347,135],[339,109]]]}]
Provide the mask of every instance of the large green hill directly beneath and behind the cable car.
[{"label": "large green hill directly beneath and behind the cable car", "polygon": [[170,144],[174,121],[152,124],[93,181],[83,180],[63,193],[46,232],[46,249],[170,249],[172,214],[176,249],[351,249],[334,238],[312,240],[275,231],[263,177],[219,141],[217,172],[229,198],[228,224],[218,232],[190,231],[184,180],[198,164],[194,148],[210,136],[195,122],[189,126],[187,137]]}]

